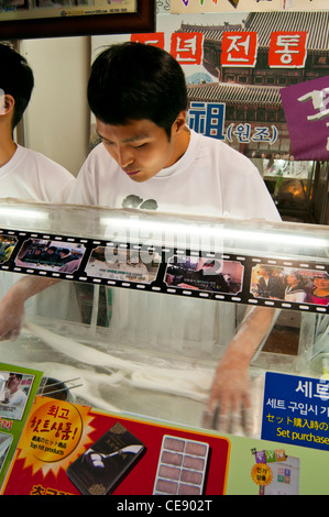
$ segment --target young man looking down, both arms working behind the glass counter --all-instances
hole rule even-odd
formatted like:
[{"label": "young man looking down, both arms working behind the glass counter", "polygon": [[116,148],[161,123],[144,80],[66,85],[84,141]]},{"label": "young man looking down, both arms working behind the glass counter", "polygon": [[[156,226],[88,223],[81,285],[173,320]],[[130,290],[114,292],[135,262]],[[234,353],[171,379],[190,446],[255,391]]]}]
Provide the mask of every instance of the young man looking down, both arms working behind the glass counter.
[{"label": "young man looking down, both arms working behind the glass counter", "polygon": [[[186,127],[184,73],[165,51],[139,43],[106,50],[92,65],[88,101],[101,143],[84,164],[69,204],[122,208],[133,199],[135,207],[162,212],[279,220],[252,163]],[[227,331],[230,304],[160,297],[116,289],[111,326],[166,351],[188,343],[204,356]],[[249,363],[272,318],[271,309],[253,310],[219,362],[209,413],[219,404],[221,424],[250,407]]]}]

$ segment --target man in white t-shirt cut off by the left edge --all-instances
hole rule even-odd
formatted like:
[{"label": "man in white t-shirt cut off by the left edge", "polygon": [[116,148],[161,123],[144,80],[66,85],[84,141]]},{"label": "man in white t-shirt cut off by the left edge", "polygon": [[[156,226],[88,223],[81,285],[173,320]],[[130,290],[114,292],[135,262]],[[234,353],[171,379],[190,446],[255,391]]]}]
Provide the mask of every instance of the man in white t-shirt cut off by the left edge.
[{"label": "man in white t-shirt cut off by the left edge", "polygon": [[[29,106],[34,77],[26,59],[7,44],[0,44],[0,199],[20,201],[62,201],[75,177],[41,153],[19,145],[13,132]],[[0,298],[20,279],[14,273],[1,273]],[[59,297],[61,304],[54,304]],[[72,285],[54,286],[51,292],[26,304],[28,314],[78,319]]]}]

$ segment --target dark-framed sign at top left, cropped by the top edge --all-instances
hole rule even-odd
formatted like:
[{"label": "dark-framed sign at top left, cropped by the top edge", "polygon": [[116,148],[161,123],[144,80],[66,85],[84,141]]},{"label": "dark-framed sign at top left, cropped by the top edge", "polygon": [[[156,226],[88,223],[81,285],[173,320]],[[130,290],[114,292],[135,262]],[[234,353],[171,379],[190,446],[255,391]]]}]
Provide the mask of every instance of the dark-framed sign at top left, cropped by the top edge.
[{"label": "dark-framed sign at top left, cropped by the top edge", "polygon": [[154,2],[138,0],[0,0],[2,40],[63,37],[154,29]]}]

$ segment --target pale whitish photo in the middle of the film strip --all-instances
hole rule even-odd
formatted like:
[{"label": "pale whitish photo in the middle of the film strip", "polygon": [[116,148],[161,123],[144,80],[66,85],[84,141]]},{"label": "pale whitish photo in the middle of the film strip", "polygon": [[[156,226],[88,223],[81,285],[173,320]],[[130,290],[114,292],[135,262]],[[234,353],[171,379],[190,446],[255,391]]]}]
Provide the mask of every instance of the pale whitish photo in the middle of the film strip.
[{"label": "pale whitish photo in the middle of the film strip", "polygon": [[90,254],[85,273],[88,277],[105,280],[151,284],[156,279],[161,255],[136,246],[98,245]]}]

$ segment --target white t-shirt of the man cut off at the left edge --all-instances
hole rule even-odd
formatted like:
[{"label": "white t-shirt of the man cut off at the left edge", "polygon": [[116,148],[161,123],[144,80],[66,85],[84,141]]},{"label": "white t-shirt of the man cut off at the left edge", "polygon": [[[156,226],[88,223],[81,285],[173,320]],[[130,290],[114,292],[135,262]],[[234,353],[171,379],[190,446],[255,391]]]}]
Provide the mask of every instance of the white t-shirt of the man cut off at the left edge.
[{"label": "white t-shirt of the man cut off at the left edge", "polygon": [[[12,158],[0,167],[0,198],[20,201],[64,202],[75,177],[41,153],[17,144]],[[36,229],[37,230],[37,229]],[[0,298],[21,278],[21,274],[1,272]],[[57,300],[57,301],[56,301]],[[26,316],[79,319],[73,285],[61,283],[30,298]]]}]

